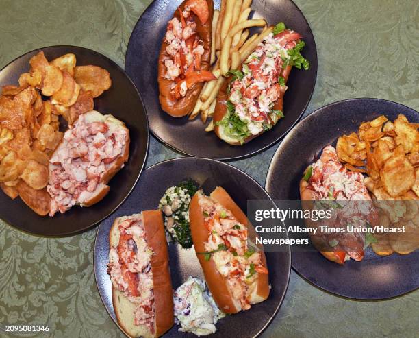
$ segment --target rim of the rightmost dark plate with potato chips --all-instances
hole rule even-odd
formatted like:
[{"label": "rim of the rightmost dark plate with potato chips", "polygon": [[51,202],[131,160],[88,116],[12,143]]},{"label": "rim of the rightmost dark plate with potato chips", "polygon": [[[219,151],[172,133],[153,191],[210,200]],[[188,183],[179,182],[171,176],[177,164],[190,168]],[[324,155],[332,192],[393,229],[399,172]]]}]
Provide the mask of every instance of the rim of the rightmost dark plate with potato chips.
[{"label": "rim of the rightmost dark plate with potato chips", "polygon": [[[310,117],[315,118],[318,114],[321,114],[323,110],[325,110],[325,109],[327,109],[331,106],[337,106],[337,105],[344,104],[344,103],[350,102],[350,101],[379,101],[379,102],[384,102],[384,103],[387,103],[387,104],[396,104],[398,106],[402,106],[402,107],[407,108],[409,110],[414,110],[414,112],[416,112],[416,114],[418,114],[418,118],[419,118],[418,110],[416,110],[414,108],[411,108],[409,106],[406,106],[405,104],[401,104],[399,102],[396,102],[396,101],[392,101],[392,100],[389,100],[389,99],[381,99],[381,98],[378,98],[378,97],[353,97],[353,98],[350,98],[350,99],[342,99],[342,100],[338,100],[338,101],[333,101],[329,104],[326,104],[325,106],[321,106],[321,107],[317,108],[316,110],[314,110],[313,112],[309,113],[307,116],[303,117],[303,119],[301,119],[301,121],[299,121],[299,123],[302,123],[303,121],[305,121],[305,119],[309,119]],[[264,184],[264,188],[267,192],[268,192],[268,186],[272,185],[271,181],[272,181],[272,175],[273,175],[273,172],[272,172],[273,171],[273,163],[274,163],[274,161],[277,160],[277,156],[279,156],[279,153],[282,150],[283,144],[285,142],[288,142],[289,139],[291,139],[293,137],[292,134],[294,134],[294,132],[296,132],[295,128],[296,128],[296,125],[294,126],[294,129],[291,132],[289,132],[283,138],[283,140],[281,141],[281,144],[277,147],[277,149],[275,150],[275,153],[272,155],[272,158],[270,159],[270,163],[269,163],[269,167],[268,167],[268,173],[266,173],[265,184]],[[326,289],[325,287],[322,287],[322,285],[319,285],[318,282],[314,282],[310,278],[307,278],[307,276],[305,276],[305,274],[303,274],[302,271],[300,271],[299,269],[296,269],[296,267],[294,267],[294,263],[293,263],[294,259],[293,258],[294,258],[294,255],[291,256],[291,268],[292,268],[292,270],[294,270],[294,272],[297,275],[299,275],[305,281],[309,282],[309,284],[312,285],[313,287],[316,287],[316,289],[319,289],[321,291],[329,293],[330,295],[334,295],[335,297],[339,297],[339,298],[343,298],[343,299],[361,300],[361,301],[391,300],[391,299],[394,299],[394,298],[401,297],[403,295],[407,295],[407,294],[412,293],[412,292],[419,289],[419,285],[418,285],[416,288],[411,289],[407,292],[398,293],[398,294],[393,295],[391,297],[385,297],[385,298],[382,298],[382,297],[381,298],[365,298],[365,297],[360,298],[360,297],[352,297],[352,296],[348,296],[348,295],[341,295],[341,294],[335,293],[333,291],[330,291],[329,289]]]}]

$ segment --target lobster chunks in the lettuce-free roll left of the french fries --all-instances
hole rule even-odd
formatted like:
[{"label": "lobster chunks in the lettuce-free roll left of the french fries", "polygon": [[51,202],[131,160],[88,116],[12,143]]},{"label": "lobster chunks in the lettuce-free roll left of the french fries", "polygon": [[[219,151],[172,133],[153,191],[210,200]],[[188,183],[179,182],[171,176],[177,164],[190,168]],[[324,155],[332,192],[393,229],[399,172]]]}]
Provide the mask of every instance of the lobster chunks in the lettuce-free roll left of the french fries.
[{"label": "lobster chunks in the lettuce-free roll left of the french fries", "polygon": [[180,20],[174,17],[168,22],[166,53],[170,58],[164,60],[164,78],[173,80],[170,94],[175,99],[186,95],[188,88],[196,82],[213,80],[211,72],[201,70],[201,56],[205,53],[204,41],[196,31],[196,14],[201,23],[208,21],[209,9],[205,0],[190,0],[184,10],[178,8]]}]

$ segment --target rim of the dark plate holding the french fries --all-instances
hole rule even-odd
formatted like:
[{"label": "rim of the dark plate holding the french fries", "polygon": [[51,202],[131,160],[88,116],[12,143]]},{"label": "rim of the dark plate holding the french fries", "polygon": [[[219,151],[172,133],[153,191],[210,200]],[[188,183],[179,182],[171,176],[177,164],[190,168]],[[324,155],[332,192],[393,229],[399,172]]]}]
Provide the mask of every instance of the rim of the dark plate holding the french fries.
[{"label": "rim of the dark plate holding the french fries", "polygon": [[[129,36],[129,40],[127,43],[127,49],[125,51],[125,59],[124,59],[124,69],[127,69],[127,56],[128,56],[128,50],[129,50],[129,46],[131,45],[131,40],[134,40],[133,36],[134,36],[134,31],[136,30],[137,26],[140,24],[140,21],[142,19],[142,17],[144,16],[144,14],[147,12],[147,10],[149,10],[149,8],[151,8],[151,6],[153,5],[153,3],[155,3],[155,1],[157,0],[153,0],[148,6],[147,8],[144,9],[144,11],[142,12],[142,14],[140,15],[140,17],[138,18],[138,21],[136,22],[136,24],[134,25],[132,31],[131,31],[131,35]],[[318,74],[318,55],[317,55],[317,46],[316,46],[316,38],[314,37],[313,31],[312,31],[312,27],[309,25],[307,18],[305,17],[305,15],[303,14],[303,11],[299,8],[298,5],[296,5],[296,3],[294,3],[293,0],[286,0],[289,1],[290,3],[292,3],[296,10],[299,12],[299,14],[301,14],[301,16],[303,17],[305,23],[307,24],[307,27],[309,29],[309,34],[311,34],[313,36],[313,47],[314,47],[314,56],[315,56],[315,60],[316,60],[316,70],[314,73],[314,83],[313,83],[313,88],[312,90],[310,90],[310,95],[307,98],[307,103],[305,104],[303,110],[301,111],[301,113],[299,114],[299,116],[297,117],[296,121],[294,121],[294,123],[292,123],[292,125],[290,125],[290,127],[288,128],[288,130],[286,130],[285,132],[283,132],[282,136],[278,137],[275,141],[272,141],[271,143],[269,143],[268,145],[264,145],[264,147],[261,147],[253,152],[250,152],[249,154],[245,154],[245,155],[240,155],[240,156],[229,156],[229,157],[215,157],[215,158],[211,158],[212,160],[220,160],[220,161],[233,161],[233,160],[243,160],[245,158],[250,158],[251,156],[255,156],[257,154],[260,154],[261,152],[264,152],[266,149],[269,149],[270,147],[276,145],[279,141],[282,141],[289,133],[290,131],[295,127],[295,125],[297,123],[299,123],[299,121],[301,121],[301,117],[303,116],[303,114],[305,113],[305,111],[307,110],[310,102],[312,101],[312,97],[313,97],[313,93],[314,90],[316,89],[316,83],[317,83],[317,74]],[[312,61],[310,61],[310,67],[311,67]],[[128,73],[127,73],[128,74]],[[144,106],[144,110],[147,114],[148,117],[148,112],[147,109],[145,109]],[[153,128],[149,128],[149,131],[151,132],[151,134],[153,134],[153,136],[157,139],[157,141],[159,141],[160,143],[166,145],[166,147],[168,147],[169,149],[173,150],[174,152],[177,152],[178,154],[182,154],[182,155],[186,155],[186,156],[190,156],[190,157],[194,157],[194,158],[204,158],[202,156],[195,156],[192,154],[189,154],[188,152],[183,152],[181,149],[178,149],[177,147],[170,145],[169,143],[166,143],[166,141],[164,141],[162,138],[160,138],[160,136],[158,136],[157,134],[155,134]],[[231,146],[233,147],[233,146]]]}]

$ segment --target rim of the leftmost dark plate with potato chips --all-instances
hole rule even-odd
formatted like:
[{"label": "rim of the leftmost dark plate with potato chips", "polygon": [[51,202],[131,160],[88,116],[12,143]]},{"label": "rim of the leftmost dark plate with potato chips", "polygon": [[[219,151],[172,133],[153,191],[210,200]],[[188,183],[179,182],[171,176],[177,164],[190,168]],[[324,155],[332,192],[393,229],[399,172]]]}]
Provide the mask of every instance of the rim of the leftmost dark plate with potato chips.
[{"label": "rim of the leftmost dark plate with potato chips", "polygon": [[[86,232],[88,230],[91,230],[95,226],[99,226],[99,224],[101,223],[101,221],[103,221],[107,217],[110,217],[110,215],[112,215],[116,210],[118,210],[118,208],[120,208],[120,206],[123,204],[123,202],[125,202],[125,200],[127,200],[127,198],[129,197],[129,195],[131,195],[132,191],[134,191],[134,188],[136,187],[136,185],[138,183],[138,180],[140,179],[140,176],[142,174],[142,171],[144,171],[144,167],[145,167],[146,162],[147,162],[147,159],[149,157],[149,145],[150,145],[149,117],[148,117],[147,112],[145,110],[144,101],[142,100],[142,96],[141,96],[140,92],[138,91],[137,86],[131,80],[131,77],[127,74],[127,72],[125,71],[125,69],[123,69],[122,67],[120,67],[119,64],[117,64],[110,57],[105,56],[102,53],[99,53],[99,51],[94,51],[94,50],[92,50],[90,48],[76,46],[76,45],[49,45],[49,46],[45,46],[45,47],[38,47],[36,49],[32,49],[31,51],[27,51],[27,52],[21,54],[20,56],[17,56],[12,61],[8,62],[8,64],[5,64],[5,66],[0,69],[0,73],[4,69],[6,69],[7,67],[9,67],[10,64],[13,64],[14,62],[16,62],[17,60],[19,60],[20,58],[23,58],[24,56],[27,56],[27,54],[34,53],[36,51],[43,51],[43,50],[49,49],[49,48],[56,48],[56,47],[66,48],[66,49],[82,49],[82,50],[88,51],[89,53],[96,54],[97,56],[100,56],[102,58],[105,58],[105,59],[109,60],[112,64],[114,64],[114,66],[116,66],[116,69],[118,69],[119,71],[121,71],[125,75],[125,77],[129,81],[129,83],[131,84],[131,86],[133,86],[133,88],[135,90],[135,93],[138,95],[138,97],[140,99],[140,103],[142,105],[142,108],[144,109],[144,115],[145,115],[145,119],[146,119],[146,122],[147,122],[147,123],[145,123],[146,134],[147,134],[147,143],[146,143],[146,149],[145,149],[145,153],[144,153],[144,160],[142,161],[142,165],[140,167],[140,171],[138,171],[138,175],[136,177],[136,180],[135,180],[133,186],[131,186],[131,189],[129,189],[127,195],[118,203],[118,205],[115,208],[113,208],[110,211],[110,213],[108,213],[105,217],[102,217],[98,221],[95,221],[93,224],[90,224],[89,226],[86,226],[86,227],[84,227],[82,229],[79,229],[79,230],[75,230],[75,231],[71,231],[71,232],[62,232],[61,234],[39,234],[38,232],[29,232],[29,231],[21,228],[21,226],[16,226],[15,224],[11,224],[8,221],[5,221],[3,218],[0,217],[1,221],[3,221],[6,225],[12,226],[14,229],[16,229],[18,231],[21,231],[21,232],[23,232],[25,234],[30,234],[32,236],[45,237],[45,238],[63,238],[63,237],[74,236],[76,234],[81,234],[82,232]],[[27,208],[29,208],[29,206],[27,206]],[[39,216],[39,217],[45,217],[45,216]]]}]

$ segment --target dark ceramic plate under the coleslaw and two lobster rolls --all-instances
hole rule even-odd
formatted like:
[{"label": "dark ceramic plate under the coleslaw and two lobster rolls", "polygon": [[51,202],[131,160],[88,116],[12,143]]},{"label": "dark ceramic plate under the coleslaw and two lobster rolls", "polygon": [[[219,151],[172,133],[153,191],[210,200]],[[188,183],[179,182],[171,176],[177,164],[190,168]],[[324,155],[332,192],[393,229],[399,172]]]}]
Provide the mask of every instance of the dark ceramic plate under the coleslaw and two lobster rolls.
[{"label": "dark ceramic plate under the coleslaw and two lobster rolls", "polygon": [[[235,202],[246,211],[248,199],[270,200],[269,195],[253,178],[239,169],[223,162],[205,158],[177,158],[167,160],[147,168],[125,203],[105,219],[97,231],[94,243],[94,275],[97,287],[107,309],[116,323],[112,306],[112,285],[106,273],[109,254],[109,230],[116,217],[132,215],[141,210],[157,208],[166,189],[182,180],[192,178],[198,182],[205,193],[216,186],[223,186]],[[272,202],[273,206],[273,202]],[[286,234],[284,234],[285,238]],[[266,252],[269,279],[272,289],[269,298],[252,306],[249,311],[227,316],[217,324],[217,337],[255,337],[268,326],[281,306],[290,277],[290,252]],[[170,273],[173,288],[179,287],[188,276],[203,278],[201,266],[194,250],[185,250],[177,244],[169,245]],[[196,337],[191,333],[180,333],[174,326],[164,337]]]}]

